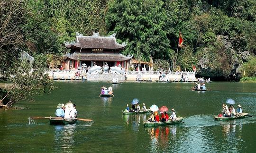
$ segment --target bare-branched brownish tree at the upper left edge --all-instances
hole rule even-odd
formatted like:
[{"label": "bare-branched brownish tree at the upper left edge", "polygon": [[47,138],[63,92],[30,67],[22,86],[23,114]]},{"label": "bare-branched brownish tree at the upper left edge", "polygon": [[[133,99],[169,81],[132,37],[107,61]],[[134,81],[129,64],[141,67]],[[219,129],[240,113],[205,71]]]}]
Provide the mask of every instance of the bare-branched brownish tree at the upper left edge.
[{"label": "bare-branched brownish tree at the upper left edge", "polygon": [[13,61],[19,56],[17,48],[23,44],[21,27],[25,21],[26,2],[0,0],[0,72],[5,76]]}]

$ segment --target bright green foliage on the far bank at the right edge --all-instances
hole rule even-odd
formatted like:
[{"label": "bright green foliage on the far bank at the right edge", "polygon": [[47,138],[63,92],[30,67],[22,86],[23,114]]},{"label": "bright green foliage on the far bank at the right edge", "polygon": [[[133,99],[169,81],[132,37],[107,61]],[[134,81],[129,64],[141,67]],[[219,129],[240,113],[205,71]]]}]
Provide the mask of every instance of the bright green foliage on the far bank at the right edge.
[{"label": "bright green foliage on the far bank at the right edge", "polygon": [[244,77],[256,77],[256,57],[243,63]]}]

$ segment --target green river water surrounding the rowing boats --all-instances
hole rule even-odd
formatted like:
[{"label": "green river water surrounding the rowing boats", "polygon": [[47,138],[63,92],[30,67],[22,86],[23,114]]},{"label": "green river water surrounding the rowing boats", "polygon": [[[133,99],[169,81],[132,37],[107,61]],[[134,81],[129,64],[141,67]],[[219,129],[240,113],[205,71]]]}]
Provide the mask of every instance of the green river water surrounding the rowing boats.
[{"label": "green river water surrounding the rowing boats", "polygon": [[[101,86],[112,86],[106,82],[55,85],[51,94],[17,104],[30,110],[0,110],[0,152],[255,152],[255,83],[214,82],[207,84],[213,91],[197,92],[191,83],[126,82],[113,85],[112,98],[99,97]],[[147,107],[174,108],[185,124],[144,127],[148,114],[121,113],[134,98]],[[228,98],[253,118],[215,121]],[[68,101],[76,104],[79,118],[94,120],[91,126],[52,126],[47,119],[28,124],[28,117],[54,116],[57,104]]]}]

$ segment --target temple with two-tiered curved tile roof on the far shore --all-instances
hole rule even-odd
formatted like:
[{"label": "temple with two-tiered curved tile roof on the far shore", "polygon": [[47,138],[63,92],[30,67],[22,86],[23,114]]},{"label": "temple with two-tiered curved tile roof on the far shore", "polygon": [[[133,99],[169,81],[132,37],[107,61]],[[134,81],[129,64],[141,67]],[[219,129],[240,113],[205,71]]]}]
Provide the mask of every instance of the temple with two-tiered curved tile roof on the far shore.
[{"label": "temple with two-tiered curved tile roof on the far shore", "polygon": [[92,36],[83,36],[76,33],[74,42],[65,42],[67,49],[71,49],[69,54],[64,55],[62,66],[64,69],[79,69],[92,67],[93,65],[103,66],[108,64],[110,67],[119,66],[128,70],[132,56],[124,56],[120,52],[126,44],[119,44],[115,34],[110,36],[100,36],[94,32]]}]

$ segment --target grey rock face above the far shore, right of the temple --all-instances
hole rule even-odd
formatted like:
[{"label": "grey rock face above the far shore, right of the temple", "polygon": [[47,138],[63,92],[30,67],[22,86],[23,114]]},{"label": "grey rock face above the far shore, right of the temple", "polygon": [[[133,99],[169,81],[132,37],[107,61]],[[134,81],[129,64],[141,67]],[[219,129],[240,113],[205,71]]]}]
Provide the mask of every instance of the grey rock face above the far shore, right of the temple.
[{"label": "grey rock face above the far shore, right of the temple", "polygon": [[[222,36],[218,35],[217,40],[222,42],[225,46],[225,53],[229,54],[227,57],[229,57],[229,69],[230,72],[227,75],[224,75],[219,70],[212,69],[214,66],[212,66],[212,63],[210,63],[210,59],[206,56],[203,56],[197,63],[198,70],[197,75],[203,76],[205,78],[222,78],[226,80],[238,80],[241,77],[241,66],[243,62],[248,61],[250,58],[249,51],[244,51],[238,46],[233,46],[232,41],[229,40],[228,36]],[[204,53],[207,54],[208,48],[204,48]],[[231,59],[230,59],[231,58]],[[219,61],[220,62],[220,61]]]}]

